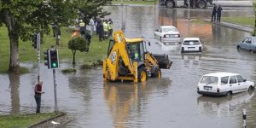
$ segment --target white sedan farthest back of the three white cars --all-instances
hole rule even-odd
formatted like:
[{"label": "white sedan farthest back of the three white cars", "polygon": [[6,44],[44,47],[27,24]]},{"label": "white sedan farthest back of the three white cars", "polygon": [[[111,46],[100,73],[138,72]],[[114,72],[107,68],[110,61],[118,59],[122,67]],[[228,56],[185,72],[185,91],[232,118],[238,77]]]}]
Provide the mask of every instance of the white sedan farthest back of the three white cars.
[{"label": "white sedan farthest back of the three white cars", "polygon": [[160,26],[154,32],[154,37],[160,40],[160,42],[181,42],[180,33],[175,26]]}]

